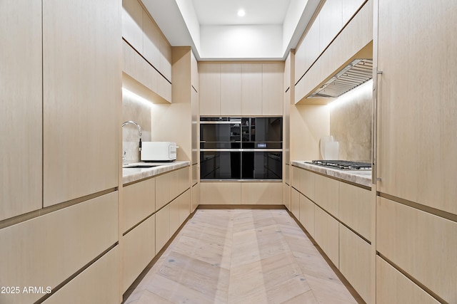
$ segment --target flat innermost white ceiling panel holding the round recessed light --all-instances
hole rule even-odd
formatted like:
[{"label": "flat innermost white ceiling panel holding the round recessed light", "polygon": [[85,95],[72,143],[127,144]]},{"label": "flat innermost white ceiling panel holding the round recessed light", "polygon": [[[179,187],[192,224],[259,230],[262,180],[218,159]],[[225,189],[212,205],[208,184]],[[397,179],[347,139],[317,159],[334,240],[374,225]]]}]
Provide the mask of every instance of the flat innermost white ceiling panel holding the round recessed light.
[{"label": "flat innermost white ceiling panel holding the round recessed light", "polygon": [[[290,0],[192,0],[201,25],[283,24]],[[238,9],[246,15],[238,17]]]}]

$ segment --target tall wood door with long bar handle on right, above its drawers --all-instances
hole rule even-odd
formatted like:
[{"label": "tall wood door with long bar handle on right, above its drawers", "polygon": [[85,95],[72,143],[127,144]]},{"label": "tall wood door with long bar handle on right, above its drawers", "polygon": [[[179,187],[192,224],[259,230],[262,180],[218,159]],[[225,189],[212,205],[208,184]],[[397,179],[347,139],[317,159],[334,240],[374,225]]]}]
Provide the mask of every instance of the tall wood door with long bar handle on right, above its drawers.
[{"label": "tall wood door with long bar handle on right, above its drawers", "polygon": [[419,2],[379,1],[377,190],[457,214],[457,9]]}]

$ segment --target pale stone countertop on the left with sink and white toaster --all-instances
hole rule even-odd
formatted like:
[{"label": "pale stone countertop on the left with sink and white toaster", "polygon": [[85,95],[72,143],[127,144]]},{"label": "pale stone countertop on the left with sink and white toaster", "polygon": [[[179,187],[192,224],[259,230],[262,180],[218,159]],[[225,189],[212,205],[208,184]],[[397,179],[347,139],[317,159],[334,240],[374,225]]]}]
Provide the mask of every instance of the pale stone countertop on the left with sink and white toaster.
[{"label": "pale stone countertop on the left with sink and white toaster", "polygon": [[127,184],[129,182],[136,182],[140,179],[146,179],[148,177],[154,177],[161,173],[169,172],[175,169],[187,167],[191,164],[189,161],[185,160],[175,160],[174,162],[136,162],[129,164],[129,166],[134,166],[137,164],[151,164],[159,165],[152,168],[122,168],[122,184]]}]

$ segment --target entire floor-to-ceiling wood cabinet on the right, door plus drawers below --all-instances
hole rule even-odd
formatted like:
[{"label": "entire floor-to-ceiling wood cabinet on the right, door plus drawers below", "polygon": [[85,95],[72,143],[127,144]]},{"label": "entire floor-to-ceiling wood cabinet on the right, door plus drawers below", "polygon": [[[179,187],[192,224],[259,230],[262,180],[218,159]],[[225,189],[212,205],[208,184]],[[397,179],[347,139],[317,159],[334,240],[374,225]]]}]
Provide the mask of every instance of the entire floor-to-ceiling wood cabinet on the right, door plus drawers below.
[{"label": "entire floor-to-ceiling wood cabinet on the right, door plus drawers below", "polygon": [[375,8],[377,303],[456,303],[457,6]]}]

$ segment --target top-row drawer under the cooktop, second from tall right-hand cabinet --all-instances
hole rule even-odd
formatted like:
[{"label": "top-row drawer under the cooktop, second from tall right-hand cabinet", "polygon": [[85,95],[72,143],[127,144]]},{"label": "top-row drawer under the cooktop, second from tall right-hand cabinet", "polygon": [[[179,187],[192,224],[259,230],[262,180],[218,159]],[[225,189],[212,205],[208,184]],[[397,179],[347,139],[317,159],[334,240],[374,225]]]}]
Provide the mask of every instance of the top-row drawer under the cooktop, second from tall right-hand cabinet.
[{"label": "top-row drawer under the cooktop, second from tall right-hand cabinet", "polygon": [[314,181],[314,201],[322,209],[338,217],[340,182],[318,174],[314,174]]}]

